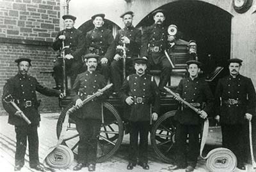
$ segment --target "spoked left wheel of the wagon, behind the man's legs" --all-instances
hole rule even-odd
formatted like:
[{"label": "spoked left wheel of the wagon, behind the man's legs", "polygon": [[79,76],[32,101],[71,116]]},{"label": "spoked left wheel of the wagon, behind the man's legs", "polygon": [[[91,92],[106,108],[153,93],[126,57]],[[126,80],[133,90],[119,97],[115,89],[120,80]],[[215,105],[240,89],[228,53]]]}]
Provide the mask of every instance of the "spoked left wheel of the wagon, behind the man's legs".
[{"label": "spoked left wheel of the wagon, behind the man's legs", "polygon": [[[115,154],[120,147],[124,137],[124,127],[120,115],[116,109],[109,103],[102,103],[104,111],[104,124],[101,124],[100,133],[97,135],[97,162],[106,161],[109,157]],[[67,110],[73,106],[73,103],[68,104],[67,108],[61,112],[57,122],[57,137],[61,133],[62,123],[64,121]],[[67,134],[63,145],[67,145],[75,155],[77,155],[77,147],[79,142],[79,134],[76,131],[76,124],[69,120]]]}]

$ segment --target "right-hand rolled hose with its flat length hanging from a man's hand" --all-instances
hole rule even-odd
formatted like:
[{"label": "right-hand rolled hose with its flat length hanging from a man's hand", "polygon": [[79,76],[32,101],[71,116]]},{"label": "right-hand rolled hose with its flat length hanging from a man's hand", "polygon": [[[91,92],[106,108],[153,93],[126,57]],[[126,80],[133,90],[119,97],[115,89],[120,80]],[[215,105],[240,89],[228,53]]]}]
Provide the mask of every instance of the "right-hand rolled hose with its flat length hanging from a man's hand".
[{"label": "right-hand rolled hose with its flat length hanging from a man's hand", "polygon": [[207,159],[206,167],[212,172],[232,172],[236,169],[236,155],[228,148],[214,148],[205,157],[202,155],[204,145],[207,140],[209,129],[209,120],[204,122],[202,141],[200,147],[200,156]]}]

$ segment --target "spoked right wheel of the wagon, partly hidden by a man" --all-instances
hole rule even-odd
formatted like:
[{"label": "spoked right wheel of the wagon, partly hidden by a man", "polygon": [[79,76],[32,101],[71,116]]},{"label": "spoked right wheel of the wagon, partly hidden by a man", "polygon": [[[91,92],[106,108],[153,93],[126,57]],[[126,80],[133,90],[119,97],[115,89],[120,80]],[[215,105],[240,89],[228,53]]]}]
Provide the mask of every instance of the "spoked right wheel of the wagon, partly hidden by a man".
[{"label": "spoked right wheel of the wagon, partly hidden by a man", "polygon": [[176,111],[164,113],[152,127],[150,140],[156,154],[164,162],[173,162],[175,152],[175,125],[173,116]]}]

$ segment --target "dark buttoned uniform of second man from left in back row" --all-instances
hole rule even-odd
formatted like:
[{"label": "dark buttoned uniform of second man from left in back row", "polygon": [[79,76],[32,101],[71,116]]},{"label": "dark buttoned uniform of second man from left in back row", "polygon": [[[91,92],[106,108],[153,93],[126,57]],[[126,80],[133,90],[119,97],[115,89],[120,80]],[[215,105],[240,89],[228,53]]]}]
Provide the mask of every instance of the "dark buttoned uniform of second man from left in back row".
[{"label": "dark buttoned uniform of second man from left in back row", "polygon": [[109,78],[109,64],[113,59],[113,53],[109,48],[113,40],[112,31],[104,27],[95,27],[92,31],[86,33],[86,54],[100,55],[99,63],[102,57],[108,59],[107,64],[100,63],[97,67],[97,70],[105,76],[106,80]]}]

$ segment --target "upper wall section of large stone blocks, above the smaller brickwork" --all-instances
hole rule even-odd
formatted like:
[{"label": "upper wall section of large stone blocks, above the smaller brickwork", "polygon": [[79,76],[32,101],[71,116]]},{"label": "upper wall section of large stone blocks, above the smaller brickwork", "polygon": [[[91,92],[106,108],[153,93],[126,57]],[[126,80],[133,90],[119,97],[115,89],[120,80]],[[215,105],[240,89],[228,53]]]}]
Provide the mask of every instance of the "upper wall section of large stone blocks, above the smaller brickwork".
[{"label": "upper wall section of large stone blocks, above the smaller brickwork", "polygon": [[0,0],[0,37],[53,41],[60,0]]}]

